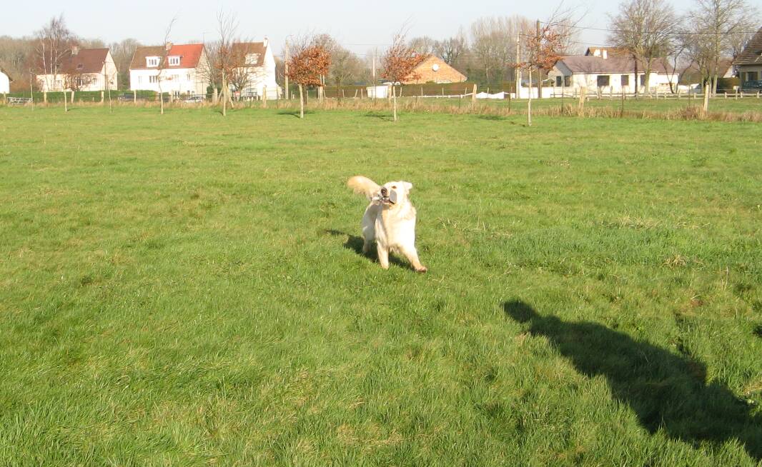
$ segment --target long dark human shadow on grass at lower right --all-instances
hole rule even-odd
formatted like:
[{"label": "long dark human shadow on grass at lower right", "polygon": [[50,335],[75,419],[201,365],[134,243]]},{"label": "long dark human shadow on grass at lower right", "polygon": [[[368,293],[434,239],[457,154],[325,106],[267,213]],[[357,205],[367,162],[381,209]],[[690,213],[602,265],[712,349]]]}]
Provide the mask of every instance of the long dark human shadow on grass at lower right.
[{"label": "long dark human shadow on grass at lower right", "polygon": [[580,373],[605,376],[614,399],[629,405],[649,433],[699,446],[738,440],[762,459],[762,418],[721,383],[706,383],[706,365],[637,341],[595,322],[540,316],[519,300],[503,303],[507,316],[549,339]]}]

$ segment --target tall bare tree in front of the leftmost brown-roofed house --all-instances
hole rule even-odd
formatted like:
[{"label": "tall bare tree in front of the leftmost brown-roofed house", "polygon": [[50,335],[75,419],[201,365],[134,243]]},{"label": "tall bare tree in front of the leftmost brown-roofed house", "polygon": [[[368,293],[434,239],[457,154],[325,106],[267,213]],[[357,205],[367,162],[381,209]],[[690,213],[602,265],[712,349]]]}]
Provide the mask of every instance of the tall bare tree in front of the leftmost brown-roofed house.
[{"label": "tall bare tree in front of the leftmost brown-roofed house", "polygon": [[63,14],[50,18],[50,21],[37,31],[36,37],[35,68],[42,70],[45,77],[44,87],[46,91],[50,91],[55,87],[63,56],[75,45],[76,39],[66,27]]}]

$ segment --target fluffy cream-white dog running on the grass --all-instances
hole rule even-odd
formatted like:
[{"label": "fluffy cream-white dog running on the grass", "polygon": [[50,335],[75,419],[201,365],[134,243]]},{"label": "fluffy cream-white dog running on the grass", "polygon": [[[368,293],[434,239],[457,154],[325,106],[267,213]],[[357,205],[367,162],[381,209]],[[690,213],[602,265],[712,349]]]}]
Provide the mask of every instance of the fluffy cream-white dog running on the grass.
[{"label": "fluffy cream-white dog running on the grass", "polygon": [[413,184],[389,182],[378,186],[364,176],[353,176],[347,186],[370,201],[362,223],[363,253],[368,253],[375,241],[382,268],[389,268],[391,251],[404,255],[417,272],[426,272],[415,250],[415,208],[408,199]]}]

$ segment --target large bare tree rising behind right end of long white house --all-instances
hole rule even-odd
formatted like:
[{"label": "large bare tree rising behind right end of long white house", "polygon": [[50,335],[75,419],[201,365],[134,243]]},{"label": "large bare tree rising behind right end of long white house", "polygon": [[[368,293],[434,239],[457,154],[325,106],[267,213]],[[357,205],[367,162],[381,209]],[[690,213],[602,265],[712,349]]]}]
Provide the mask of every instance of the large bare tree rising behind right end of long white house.
[{"label": "large bare tree rising behind right end of long white house", "polygon": [[611,18],[610,42],[625,49],[635,68],[635,94],[638,95],[638,65],[644,68],[645,91],[648,92],[651,70],[674,47],[675,33],[680,29],[680,17],[666,0],[626,0],[619,14]]}]

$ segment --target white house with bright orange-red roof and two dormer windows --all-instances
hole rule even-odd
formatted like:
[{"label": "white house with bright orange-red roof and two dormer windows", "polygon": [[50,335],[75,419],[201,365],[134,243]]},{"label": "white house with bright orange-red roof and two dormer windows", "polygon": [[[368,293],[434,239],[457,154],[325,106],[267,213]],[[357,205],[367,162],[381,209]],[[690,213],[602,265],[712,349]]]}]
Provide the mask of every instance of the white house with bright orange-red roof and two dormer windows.
[{"label": "white house with bright orange-red roof and two dormer windows", "polygon": [[162,92],[176,97],[206,94],[209,62],[203,44],[166,43],[135,49],[130,62],[130,91],[158,92],[159,84]]}]

